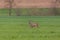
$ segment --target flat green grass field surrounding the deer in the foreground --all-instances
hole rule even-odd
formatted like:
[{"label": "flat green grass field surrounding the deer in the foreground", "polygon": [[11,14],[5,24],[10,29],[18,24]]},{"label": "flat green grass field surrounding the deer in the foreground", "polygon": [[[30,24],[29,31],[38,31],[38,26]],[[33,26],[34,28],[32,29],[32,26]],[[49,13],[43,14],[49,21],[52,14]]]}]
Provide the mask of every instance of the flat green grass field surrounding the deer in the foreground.
[{"label": "flat green grass field surrounding the deer in the foreground", "polygon": [[0,40],[60,40],[60,16],[0,16]]}]

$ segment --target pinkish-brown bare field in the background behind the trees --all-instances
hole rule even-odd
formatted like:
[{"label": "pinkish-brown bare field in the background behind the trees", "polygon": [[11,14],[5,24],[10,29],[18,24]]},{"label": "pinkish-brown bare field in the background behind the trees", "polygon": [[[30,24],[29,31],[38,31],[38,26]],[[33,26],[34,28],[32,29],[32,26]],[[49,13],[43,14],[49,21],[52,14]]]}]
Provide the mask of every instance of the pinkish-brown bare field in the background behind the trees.
[{"label": "pinkish-brown bare field in the background behind the trees", "polygon": [[[12,2],[13,8],[51,8],[60,7],[60,3],[55,3],[55,0],[14,0]],[[8,0],[0,0],[0,8],[9,7]]]}]

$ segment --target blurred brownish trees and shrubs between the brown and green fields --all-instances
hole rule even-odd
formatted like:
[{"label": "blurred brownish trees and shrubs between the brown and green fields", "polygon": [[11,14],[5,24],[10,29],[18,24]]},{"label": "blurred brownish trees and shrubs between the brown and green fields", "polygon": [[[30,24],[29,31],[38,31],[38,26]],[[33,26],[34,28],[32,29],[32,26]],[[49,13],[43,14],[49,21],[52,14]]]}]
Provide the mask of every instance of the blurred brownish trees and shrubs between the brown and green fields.
[{"label": "blurred brownish trees and shrubs between the brown and green fields", "polygon": [[[6,0],[7,2],[9,2],[9,16],[12,15],[12,3],[14,2],[14,0]],[[60,9],[57,8],[57,3],[60,4],[60,0],[55,0],[54,2],[54,6],[53,8],[50,8],[49,10],[46,8],[26,8],[25,10],[22,10],[22,8],[15,8],[14,11],[16,13],[17,16],[20,15],[29,15],[29,16],[45,16],[45,15],[60,15]],[[25,13],[25,14],[24,14]]]}]

